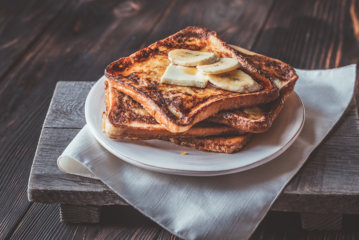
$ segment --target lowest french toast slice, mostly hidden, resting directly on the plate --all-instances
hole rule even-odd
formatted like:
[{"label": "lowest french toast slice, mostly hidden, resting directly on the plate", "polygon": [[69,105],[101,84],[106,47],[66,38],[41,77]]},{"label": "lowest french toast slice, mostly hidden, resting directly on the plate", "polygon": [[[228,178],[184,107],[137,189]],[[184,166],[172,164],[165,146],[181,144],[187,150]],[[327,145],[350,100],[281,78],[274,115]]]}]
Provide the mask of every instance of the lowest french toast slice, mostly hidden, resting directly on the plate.
[{"label": "lowest french toast slice, mostly hidden, resting directly on the plate", "polygon": [[253,133],[246,133],[241,136],[208,136],[200,138],[175,137],[167,140],[175,144],[197,148],[202,151],[235,153],[246,147],[249,140],[251,140],[252,134]]}]

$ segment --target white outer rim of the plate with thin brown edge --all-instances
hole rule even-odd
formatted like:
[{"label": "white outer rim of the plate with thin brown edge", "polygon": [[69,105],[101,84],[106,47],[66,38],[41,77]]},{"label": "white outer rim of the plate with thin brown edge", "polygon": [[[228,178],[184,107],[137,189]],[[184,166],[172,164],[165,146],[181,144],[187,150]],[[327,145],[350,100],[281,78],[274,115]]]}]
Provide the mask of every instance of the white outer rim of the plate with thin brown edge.
[{"label": "white outer rim of the plate with thin brown edge", "polygon": [[[104,147],[106,148],[109,152],[111,152],[112,154],[114,154],[116,157],[120,158],[123,161],[126,161],[132,165],[141,167],[143,169],[147,169],[147,170],[151,170],[151,171],[156,171],[156,172],[162,172],[162,173],[167,173],[167,174],[175,174],[175,175],[188,175],[188,176],[218,176],[218,175],[225,175],[225,174],[231,174],[234,172],[240,172],[240,171],[245,171],[248,169],[252,169],[254,167],[263,165],[266,162],[269,162],[271,160],[273,160],[274,158],[278,157],[280,154],[282,154],[284,151],[286,151],[286,149],[288,149],[295,141],[295,139],[297,139],[298,135],[300,134],[300,131],[303,129],[304,126],[304,120],[305,120],[305,109],[304,109],[304,105],[302,100],[300,99],[300,97],[298,96],[298,94],[296,92],[292,92],[292,94],[294,93],[295,96],[298,98],[299,100],[299,105],[302,108],[303,111],[303,116],[302,116],[302,121],[300,123],[300,127],[297,129],[297,132],[293,135],[293,137],[284,145],[282,146],[280,149],[278,149],[278,151],[270,154],[269,156],[266,156],[264,158],[261,158],[255,162],[252,162],[248,165],[244,165],[241,167],[236,167],[236,168],[231,168],[231,169],[225,169],[225,170],[218,170],[218,171],[209,171],[209,170],[203,170],[203,171],[199,171],[199,170],[185,170],[185,169],[175,169],[175,168],[167,168],[167,167],[160,167],[160,166],[153,166],[153,165],[149,165],[140,161],[137,161],[131,157],[126,156],[125,154],[116,151],[114,148],[112,148],[111,146],[109,146],[106,142],[104,142],[104,140],[102,139],[101,136],[99,136],[96,132],[96,130],[93,128],[93,126],[90,124],[89,121],[89,117],[88,117],[88,105],[89,105],[89,96],[91,96],[95,90],[97,88],[97,86],[99,86],[100,83],[102,83],[104,80],[106,80],[105,76],[102,76],[101,78],[99,78],[97,80],[97,82],[92,86],[92,88],[90,89],[87,97],[86,97],[86,101],[85,101],[85,119],[86,119],[86,123],[88,124],[88,127],[90,129],[90,132],[92,133],[92,135],[96,138],[96,140]],[[104,91],[104,90],[103,90]],[[199,149],[196,149],[197,151],[201,151]],[[236,154],[236,153],[232,153],[232,154]],[[120,155],[120,156],[119,156]],[[163,170],[163,171],[160,171]]]}]

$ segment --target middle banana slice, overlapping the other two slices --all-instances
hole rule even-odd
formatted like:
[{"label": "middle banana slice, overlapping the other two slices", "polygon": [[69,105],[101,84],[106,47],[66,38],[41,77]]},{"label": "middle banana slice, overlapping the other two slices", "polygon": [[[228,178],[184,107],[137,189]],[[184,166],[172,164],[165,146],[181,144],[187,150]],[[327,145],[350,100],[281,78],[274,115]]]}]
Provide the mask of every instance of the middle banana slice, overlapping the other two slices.
[{"label": "middle banana slice, overlapping the other two slices", "polygon": [[196,68],[204,74],[219,74],[232,71],[240,66],[241,64],[237,59],[226,57],[220,58],[218,61],[211,64],[196,66]]}]

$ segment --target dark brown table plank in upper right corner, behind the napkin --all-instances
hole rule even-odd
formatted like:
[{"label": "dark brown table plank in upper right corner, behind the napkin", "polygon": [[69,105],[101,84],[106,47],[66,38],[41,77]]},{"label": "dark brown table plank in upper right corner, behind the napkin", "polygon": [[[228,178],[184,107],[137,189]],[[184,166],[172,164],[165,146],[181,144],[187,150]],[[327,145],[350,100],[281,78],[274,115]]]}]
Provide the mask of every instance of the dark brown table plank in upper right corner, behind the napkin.
[{"label": "dark brown table plank in upper right corner, behind the napkin", "polygon": [[[300,69],[358,64],[358,19],[354,0],[275,1],[252,51]],[[357,106],[358,94],[357,81]]]}]

